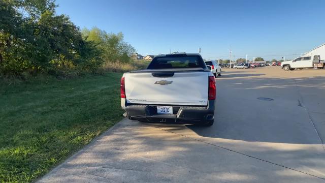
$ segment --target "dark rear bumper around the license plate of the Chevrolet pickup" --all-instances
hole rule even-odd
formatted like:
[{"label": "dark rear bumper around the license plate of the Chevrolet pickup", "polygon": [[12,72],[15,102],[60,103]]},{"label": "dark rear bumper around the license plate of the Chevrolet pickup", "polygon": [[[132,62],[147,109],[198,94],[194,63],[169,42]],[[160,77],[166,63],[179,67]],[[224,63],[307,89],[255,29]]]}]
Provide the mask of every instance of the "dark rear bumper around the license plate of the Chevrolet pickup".
[{"label": "dark rear bumper around the license plate of the Chevrolet pickup", "polygon": [[214,120],[215,101],[206,107],[173,106],[173,114],[157,114],[157,105],[125,106],[127,118],[149,123],[205,124]]}]

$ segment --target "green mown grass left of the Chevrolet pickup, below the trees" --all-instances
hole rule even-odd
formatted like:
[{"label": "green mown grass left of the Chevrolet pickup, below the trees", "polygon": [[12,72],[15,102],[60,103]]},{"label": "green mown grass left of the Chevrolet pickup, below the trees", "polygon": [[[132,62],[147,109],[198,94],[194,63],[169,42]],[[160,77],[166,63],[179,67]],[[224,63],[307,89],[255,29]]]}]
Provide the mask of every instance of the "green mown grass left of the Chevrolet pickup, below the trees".
[{"label": "green mown grass left of the Chevrolet pickup, below the trees", "polygon": [[0,81],[0,182],[35,180],[117,123],[121,75]]}]

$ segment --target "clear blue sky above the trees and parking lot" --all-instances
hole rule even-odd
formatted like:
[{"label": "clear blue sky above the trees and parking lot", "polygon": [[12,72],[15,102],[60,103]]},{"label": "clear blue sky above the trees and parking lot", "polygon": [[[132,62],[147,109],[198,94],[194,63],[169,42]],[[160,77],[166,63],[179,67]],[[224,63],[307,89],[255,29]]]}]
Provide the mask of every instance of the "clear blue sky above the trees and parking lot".
[{"label": "clear blue sky above the trees and parking lot", "polygon": [[[122,32],[142,54],[198,52],[208,59],[300,54],[325,43],[325,1],[57,0],[80,28]],[[298,56],[298,55],[297,55]],[[243,56],[241,56],[243,57]],[[281,56],[264,56],[266,59]]]}]

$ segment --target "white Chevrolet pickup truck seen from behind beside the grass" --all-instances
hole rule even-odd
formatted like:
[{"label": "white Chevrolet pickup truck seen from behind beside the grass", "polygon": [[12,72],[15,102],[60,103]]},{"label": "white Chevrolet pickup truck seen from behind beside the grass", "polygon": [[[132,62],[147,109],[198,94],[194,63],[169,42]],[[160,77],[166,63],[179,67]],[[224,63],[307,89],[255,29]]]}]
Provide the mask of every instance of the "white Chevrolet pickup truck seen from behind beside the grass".
[{"label": "white Chevrolet pickup truck seen from behind beside the grass", "polygon": [[156,55],[121,78],[121,106],[132,120],[212,126],[215,98],[214,75],[198,53]]}]

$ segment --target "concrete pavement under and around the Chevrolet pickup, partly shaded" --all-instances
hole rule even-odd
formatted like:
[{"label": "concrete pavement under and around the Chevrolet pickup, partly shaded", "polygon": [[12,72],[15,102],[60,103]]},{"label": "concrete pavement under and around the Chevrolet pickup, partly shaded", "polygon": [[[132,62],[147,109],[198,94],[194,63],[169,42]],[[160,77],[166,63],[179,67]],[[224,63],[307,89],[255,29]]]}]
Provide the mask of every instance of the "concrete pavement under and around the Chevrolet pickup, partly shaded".
[{"label": "concrete pavement under and around the Chevrolet pickup, partly shaded", "polygon": [[40,182],[325,182],[324,141],[324,70],[229,69],[214,126],[124,119]]}]

